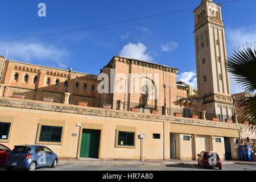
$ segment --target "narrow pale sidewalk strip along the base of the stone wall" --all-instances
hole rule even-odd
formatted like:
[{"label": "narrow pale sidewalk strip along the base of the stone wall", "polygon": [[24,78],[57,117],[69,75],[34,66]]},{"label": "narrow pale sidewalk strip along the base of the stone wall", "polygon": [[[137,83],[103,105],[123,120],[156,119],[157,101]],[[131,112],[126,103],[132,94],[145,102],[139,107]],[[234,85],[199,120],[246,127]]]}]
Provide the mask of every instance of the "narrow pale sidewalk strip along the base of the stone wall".
[{"label": "narrow pale sidewalk strip along the base of the stone wall", "polygon": [[[60,159],[59,164],[82,164],[82,165],[104,165],[104,164],[111,164],[111,165],[146,165],[146,166],[160,166],[163,164],[170,165],[170,164],[197,164],[196,160],[146,160],[146,161],[138,161],[138,160],[100,160],[100,159]],[[256,162],[246,162],[246,161],[235,161],[229,160],[224,161],[222,164],[247,164],[247,165],[255,165]]]}]

